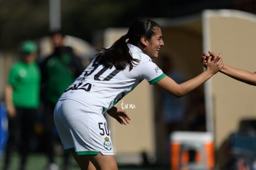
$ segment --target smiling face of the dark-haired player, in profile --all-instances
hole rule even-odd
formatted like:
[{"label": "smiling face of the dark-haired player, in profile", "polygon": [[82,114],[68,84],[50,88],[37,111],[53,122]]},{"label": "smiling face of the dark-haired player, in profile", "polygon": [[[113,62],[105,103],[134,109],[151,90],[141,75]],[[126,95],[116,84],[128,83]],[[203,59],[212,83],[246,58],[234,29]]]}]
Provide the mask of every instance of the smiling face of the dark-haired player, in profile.
[{"label": "smiling face of the dark-haired player, in profile", "polygon": [[160,51],[161,46],[164,46],[163,38],[162,38],[162,31],[160,27],[155,27],[155,34],[151,36],[150,40],[147,38],[142,38],[143,45],[143,52],[150,56],[151,58],[157,58],[158,52]]}]

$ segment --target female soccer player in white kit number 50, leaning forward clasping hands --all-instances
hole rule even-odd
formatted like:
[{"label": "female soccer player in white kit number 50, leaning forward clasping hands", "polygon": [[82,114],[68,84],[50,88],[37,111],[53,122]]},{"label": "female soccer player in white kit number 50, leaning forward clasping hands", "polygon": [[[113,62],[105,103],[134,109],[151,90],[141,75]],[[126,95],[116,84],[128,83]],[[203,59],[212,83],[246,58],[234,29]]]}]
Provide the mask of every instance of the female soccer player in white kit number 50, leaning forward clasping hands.
[{"label": "female soccer player in white kit number 50, leaning forward clasping hands", "polygon": [[91,64],[59,98],[54,121],[64,149],[80,169],[116,170],[113,145],[105,113],[121,124],[130,121],[126,111],[114,107],[143,79],[181,97],[202,85],[222,67],[221,56],[210,56],[201,74],[178,84],[151,61],[164,46],[158,23],[137,19],[126,35],[98,53]]}]

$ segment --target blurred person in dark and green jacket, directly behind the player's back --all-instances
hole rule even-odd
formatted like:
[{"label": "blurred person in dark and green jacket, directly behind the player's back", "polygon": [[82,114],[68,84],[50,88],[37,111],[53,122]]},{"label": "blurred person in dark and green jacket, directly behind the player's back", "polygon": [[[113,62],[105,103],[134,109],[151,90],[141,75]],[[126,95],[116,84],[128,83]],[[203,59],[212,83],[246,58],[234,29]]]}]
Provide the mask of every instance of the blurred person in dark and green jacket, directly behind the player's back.
[{"label": "blurred person in dark and green jacket, directly behind the player's back", "polygon": [[[55,104],[62,93],[83,72],[82,59],[75,55],[70,46],[65,45],[65,35],[61,30],[51,32],[53,53],[40,64],[42,73],[42,98],[44,104],[44,125],[46,136],[46,155],[48,167],[46,170],[59,169],[54,160],[54,121],[53,111]],[[67,169],[69,154],[64,153],[63,169]]]}]

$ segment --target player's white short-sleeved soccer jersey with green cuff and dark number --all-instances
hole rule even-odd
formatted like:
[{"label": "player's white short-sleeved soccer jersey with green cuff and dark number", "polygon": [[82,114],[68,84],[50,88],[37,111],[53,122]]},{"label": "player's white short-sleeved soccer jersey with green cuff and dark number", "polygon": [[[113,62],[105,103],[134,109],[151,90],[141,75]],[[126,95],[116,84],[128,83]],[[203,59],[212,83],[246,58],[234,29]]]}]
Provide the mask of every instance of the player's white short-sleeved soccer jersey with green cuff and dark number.
[{"label": "player's white short-sleeved soccer jersey with green cuff and dark number", "polygon": [[115,67],[109,69],[92,61],[67,88],[60,100],[76,100],[85,104],[88,111],[104,114],[143,79],[148,80],[150,84],[163,79],[165,74],[149,56],[137,46],[128,46],[132,57],[139,59],[139,63],[135,64],[132,70],[129,70],[129,66],[124,70],[116,70]]}]

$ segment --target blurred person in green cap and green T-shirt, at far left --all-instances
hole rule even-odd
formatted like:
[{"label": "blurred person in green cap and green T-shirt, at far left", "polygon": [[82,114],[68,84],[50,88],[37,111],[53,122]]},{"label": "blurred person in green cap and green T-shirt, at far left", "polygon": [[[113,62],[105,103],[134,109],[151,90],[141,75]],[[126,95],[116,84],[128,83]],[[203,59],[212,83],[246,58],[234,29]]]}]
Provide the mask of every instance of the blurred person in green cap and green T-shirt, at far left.
[{"label": "blurred person in green cap and green T-shirt, at far left", "polygon": [[5,88],[9,137],[6,145],[4,169],[9,169],[15,147],[20,153],[20,170],[25,169],[30,150],[33,125],[40,105],[40,68],[36,63],[37,46],[31,40],[21,46],[20,61],[9,71]]}]

